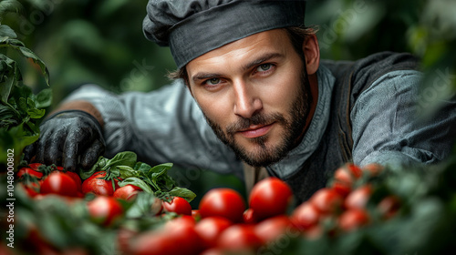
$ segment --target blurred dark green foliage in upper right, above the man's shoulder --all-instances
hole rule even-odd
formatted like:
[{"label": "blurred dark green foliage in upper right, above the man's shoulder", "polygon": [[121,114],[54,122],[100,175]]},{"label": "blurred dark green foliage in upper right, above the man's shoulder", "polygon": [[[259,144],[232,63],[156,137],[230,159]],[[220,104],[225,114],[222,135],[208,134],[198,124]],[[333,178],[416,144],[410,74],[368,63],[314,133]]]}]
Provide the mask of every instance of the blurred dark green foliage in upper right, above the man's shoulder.
[{"label": "blurred dark green foliage in upper right, above the man's shoulder", "polygon": [[446,0],[308,1],[323,58],[355,60],[378,51],[422,60],[420,117],[435,114],[456,89],[456,3]]}]

